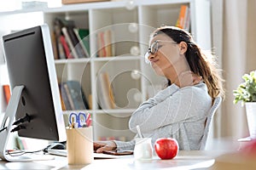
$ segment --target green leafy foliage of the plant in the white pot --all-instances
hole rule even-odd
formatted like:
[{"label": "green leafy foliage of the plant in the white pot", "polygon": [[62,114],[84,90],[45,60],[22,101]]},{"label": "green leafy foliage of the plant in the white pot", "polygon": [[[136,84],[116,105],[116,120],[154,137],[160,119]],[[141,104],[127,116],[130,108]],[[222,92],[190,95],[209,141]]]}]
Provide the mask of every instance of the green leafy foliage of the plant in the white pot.
[{"label": "green leafy foliage of the plant in the white pot", "polygon": [[241,101],[241,105],[245,102],[256,102],[256,71],[242,76],[245,82],[242,82],[236,90],[233,91],[235,96],[234,104]]}]

